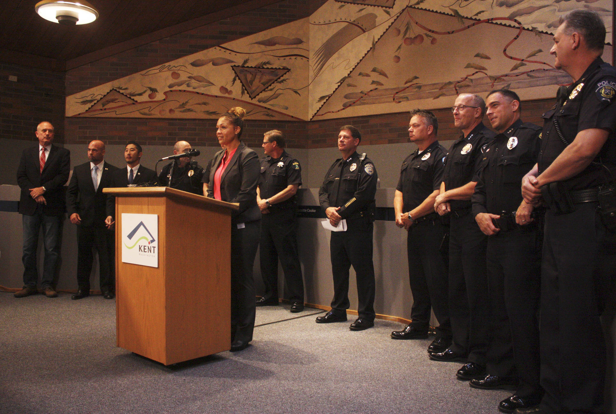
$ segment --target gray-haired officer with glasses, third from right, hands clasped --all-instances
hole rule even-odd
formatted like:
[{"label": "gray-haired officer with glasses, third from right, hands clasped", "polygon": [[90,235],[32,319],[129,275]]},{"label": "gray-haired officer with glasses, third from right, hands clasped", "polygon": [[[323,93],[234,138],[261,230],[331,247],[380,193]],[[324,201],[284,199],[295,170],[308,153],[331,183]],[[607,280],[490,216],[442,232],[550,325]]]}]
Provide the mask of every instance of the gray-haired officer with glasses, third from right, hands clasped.
[{"label": "gray-haired officer with glasses, third from right, hands clasped", "polygon": [[452,111],[454,124],[463,135],[447,155],[434,209],[439,215],[450,216],[449,314],[453,342],[445,351],[429,352],[429,356],[439,361],[467,359],[456,376],[460,380],[472,380],[485,372],[489,308],[485,269],[487,236],[471,214],[471,196],[483,151],[495,134],[482,122],[485,102],[478,95],[458,95]]}]

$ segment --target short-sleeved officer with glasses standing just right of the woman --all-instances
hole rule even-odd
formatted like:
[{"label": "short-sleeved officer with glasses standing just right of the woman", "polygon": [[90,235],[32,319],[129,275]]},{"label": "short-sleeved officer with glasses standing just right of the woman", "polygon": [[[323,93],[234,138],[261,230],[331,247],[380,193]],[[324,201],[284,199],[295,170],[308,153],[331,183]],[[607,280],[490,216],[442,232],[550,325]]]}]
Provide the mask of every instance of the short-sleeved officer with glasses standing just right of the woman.
[{"label": "short-sleeved officer with glasses standing just right of the woman", "polygon": [[278,305],[278,257],[285,273],[291,312],[304,309],[304,282],[299,265],[297,210],[295,193],[302,185],[299,162],[285,151],[282,132],[271,130],[263,137],[265,157],[261,159],[261,176],[257,203],[261,209],[259,258],[264,295],[257,306]]}]

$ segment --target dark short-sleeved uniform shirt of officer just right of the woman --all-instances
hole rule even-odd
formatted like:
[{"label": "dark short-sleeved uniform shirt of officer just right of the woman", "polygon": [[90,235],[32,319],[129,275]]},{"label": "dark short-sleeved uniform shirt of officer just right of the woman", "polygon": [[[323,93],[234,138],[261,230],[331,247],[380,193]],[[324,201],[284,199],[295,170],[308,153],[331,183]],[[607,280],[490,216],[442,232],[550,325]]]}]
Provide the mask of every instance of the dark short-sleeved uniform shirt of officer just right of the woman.
[{"label": "dark short-sleeved uniform shirt of officer just right of the woman", "polygon": [[[282,151],[279,158],[270,156],[261,159],[261,175],[259,176],[259,194],[261,199],[269,199],[290,185],[302,185],[301,165],[298,160]],[[270,205],[270,208],[283,209],[295,205],[296,197]]]}]

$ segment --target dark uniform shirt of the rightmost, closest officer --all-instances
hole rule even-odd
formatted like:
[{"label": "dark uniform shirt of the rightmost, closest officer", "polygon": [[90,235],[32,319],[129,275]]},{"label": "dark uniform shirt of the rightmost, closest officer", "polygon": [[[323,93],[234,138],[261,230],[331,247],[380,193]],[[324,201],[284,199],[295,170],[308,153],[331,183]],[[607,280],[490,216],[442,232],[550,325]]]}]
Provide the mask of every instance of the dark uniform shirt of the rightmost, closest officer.
[{"label": "dark uniform shirt of the rightmost, closest officer", "polygon": [[[604,164],[614,167],[616,162],[616,69],[597,58],[577,82],[567,88],[564,102],[557,102],[553,109],[541,117],[544,119],[541,132],[541,151],[538,157],[539,173],[549,167],[565,149],[554,125],[554,119],[565,140],[572,143],[578,132],[591,129],[607,129],[609,137],[598,154]],[[613,170],[612,170],[613,171]],[[572,190],[587,189],[604,183],[608,177],[601,165],[590,164],[575,177],[563,181]]]}]

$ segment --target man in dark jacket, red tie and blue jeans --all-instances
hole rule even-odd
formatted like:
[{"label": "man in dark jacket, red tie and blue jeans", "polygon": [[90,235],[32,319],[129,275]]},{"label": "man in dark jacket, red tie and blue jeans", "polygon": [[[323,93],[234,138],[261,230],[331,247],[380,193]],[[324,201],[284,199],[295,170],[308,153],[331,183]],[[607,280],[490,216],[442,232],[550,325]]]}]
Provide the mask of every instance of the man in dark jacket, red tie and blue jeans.
[{"label": "man in dark jacket, red tie and blue jeans", "polygon": [[60,234],[65,210],[63,185],[70,173],[71,154],[68,149],[52,145],[54,125],[47,121],[36,127],[36,138],[39,145],[23,150],[17,169],[17,183],[22,189],[18,211],[23,221],[24,269],[23,288],[15,292],[16,298],[36,293],[36,249],[41,226],[45,245],[41,287],[48,298],[58,296],[52,284],[60,258]]}]

